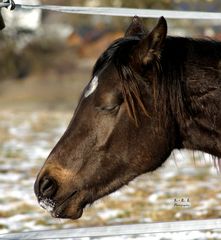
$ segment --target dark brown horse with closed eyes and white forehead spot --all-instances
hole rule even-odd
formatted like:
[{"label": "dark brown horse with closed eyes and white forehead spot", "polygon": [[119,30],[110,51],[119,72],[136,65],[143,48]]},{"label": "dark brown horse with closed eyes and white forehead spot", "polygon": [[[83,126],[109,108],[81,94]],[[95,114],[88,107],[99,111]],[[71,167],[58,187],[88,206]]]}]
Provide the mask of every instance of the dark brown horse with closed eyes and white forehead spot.
[{"label": "dark brown horse with closed eyes and white forehead spot", "polygon": [[148,33],[135,17],[97,60],[35,193],[52,216],[77,219],[181,148],[221,157],[221,43],[167,37],[163,17]]}]

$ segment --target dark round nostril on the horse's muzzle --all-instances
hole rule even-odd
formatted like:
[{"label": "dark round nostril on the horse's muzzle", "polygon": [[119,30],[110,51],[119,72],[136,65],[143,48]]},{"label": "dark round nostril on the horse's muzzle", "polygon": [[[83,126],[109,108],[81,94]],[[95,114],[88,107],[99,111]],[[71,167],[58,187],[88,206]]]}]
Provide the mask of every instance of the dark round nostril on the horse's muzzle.
[{"label": "dark round nostril on the horse's muzzle", "polygon": [[51,177],[43,177],[39,184],[39,193],[42,197],[52,198],[57,192],[58,185]]}]

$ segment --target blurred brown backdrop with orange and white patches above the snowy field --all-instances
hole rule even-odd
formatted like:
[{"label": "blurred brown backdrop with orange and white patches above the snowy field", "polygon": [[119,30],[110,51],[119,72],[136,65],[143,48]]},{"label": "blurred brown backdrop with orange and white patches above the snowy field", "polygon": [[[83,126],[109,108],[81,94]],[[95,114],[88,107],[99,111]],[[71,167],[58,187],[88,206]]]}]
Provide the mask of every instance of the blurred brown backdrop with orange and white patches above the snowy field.
[{"label": "blurred brown backdrop with orange and white patches above the snowy field", "polygon": [[[221,12],[220,0],[17,0],[16,2],[19,1],[27,4]],[[0,84],[1,89],[4,89],[0,92],[0,105],[1,99],[5,97],[13,103],[13,99],[17,98],[26,101],[27,93],[30,95],[29,102],[41,99],[44,103],[51,101],[51,106],[56,99],[57,102],[66,104],[68,101],[73,101],[71,93],[75,92],[74,89],[78,89],[77,99],[79,89],[82,89],[90,79],[90,71],[95,60],[114,39],[123,35],[131,21],[128,17],[63,14],[40,10],[10,12],[4,9],[4,12],[8,22],[6,21],[6,29],[0,32],[2,66]],[[151,29],[156,19],[147,18],[143,21],[147,28]],[[168,25],[170,35],[221,38],[219,20],[173,19],[168,20]],[[33,79],[35,79],[35,87],[33,87]],[[48,91],[44,91],[42,81],[48,84]],[[79,88],[73,84],[79,85]],[[33,90],[28,88],[27,91],[24,85],[28,85]],[[14,91],[11,88],[14,88]]]}]

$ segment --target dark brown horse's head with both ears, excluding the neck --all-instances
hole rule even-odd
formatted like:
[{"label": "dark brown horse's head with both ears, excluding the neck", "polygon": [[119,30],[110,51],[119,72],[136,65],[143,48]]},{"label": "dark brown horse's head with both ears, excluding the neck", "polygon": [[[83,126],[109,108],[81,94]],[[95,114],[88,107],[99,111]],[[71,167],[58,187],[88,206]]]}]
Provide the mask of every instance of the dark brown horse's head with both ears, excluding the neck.
[{"label": "dark brown horse's head with both ears, excluding the neck", "polygon": [[134,17],[97,60],[35,182],[40,205],[52,216],[79,218],[87,204],[154,171],[177,147],[176,124],[170,109],[162,119],[156,89],[166,35],[163,17],[150,32]]}]

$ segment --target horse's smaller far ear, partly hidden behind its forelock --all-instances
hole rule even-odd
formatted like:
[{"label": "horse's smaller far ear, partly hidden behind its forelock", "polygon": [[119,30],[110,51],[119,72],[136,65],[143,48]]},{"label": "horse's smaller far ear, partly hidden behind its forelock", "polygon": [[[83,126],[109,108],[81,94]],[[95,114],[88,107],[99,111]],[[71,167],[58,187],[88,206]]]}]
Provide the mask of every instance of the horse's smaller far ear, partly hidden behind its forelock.
[{"label": "horse's smaller far ear, partly hidden behind its forelock", "polygon": [[141,34],[145,34],[145,33],[146,33],[146,29],[143,25],[142,19],[139,18],[138,16],[134,16],[133,20],[132,20],[130,26],[127,28],[124,36],[130,37],[130,36],[136,36],[136,35],[141,35]]}]

